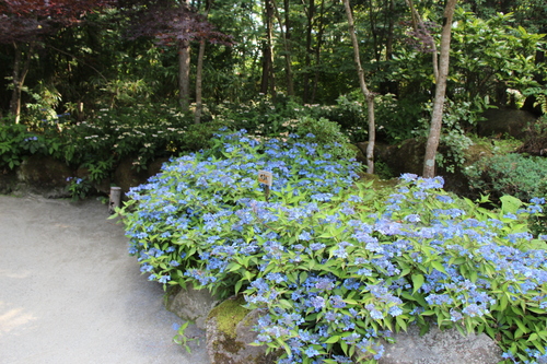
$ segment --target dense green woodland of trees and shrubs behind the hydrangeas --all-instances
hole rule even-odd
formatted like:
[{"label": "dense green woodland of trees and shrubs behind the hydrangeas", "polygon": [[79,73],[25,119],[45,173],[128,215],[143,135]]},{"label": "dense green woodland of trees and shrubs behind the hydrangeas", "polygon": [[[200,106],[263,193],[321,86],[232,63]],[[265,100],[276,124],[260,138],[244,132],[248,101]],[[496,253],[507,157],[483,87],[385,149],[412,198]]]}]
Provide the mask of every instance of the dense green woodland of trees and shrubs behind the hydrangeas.
[{"label": "dense green woodland of trees and shrubs behind the hydrangeas", "polygon": [[351,1],[353,32],[342,2],[0,1],[2,163],[42,150],[98,178],[123,155],[207,146],[219,124],[276,134],[303,117],[354,143],[427,138],[451,3],[437,162],[454,169],[486,109],[545,113],[543,1]]}]

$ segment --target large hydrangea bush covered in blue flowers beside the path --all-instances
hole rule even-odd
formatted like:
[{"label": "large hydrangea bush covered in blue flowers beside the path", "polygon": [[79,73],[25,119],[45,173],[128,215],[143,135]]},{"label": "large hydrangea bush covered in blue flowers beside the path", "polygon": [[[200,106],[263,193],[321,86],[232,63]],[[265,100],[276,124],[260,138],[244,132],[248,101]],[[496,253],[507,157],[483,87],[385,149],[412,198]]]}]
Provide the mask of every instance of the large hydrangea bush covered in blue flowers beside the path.
[{"label": "large hydrangea bush covered in blue flowers beside the path", "polygon": [[507,363],[546,362],[546,244],[527,228],[543,198],[489,211],[440,177],[375,190],[358,164],[298,136],[214,143],[172,160],[119,211],[150,280],[242,294],[278,363],[374,363],[381,339],[409,325],[486,332]]}]

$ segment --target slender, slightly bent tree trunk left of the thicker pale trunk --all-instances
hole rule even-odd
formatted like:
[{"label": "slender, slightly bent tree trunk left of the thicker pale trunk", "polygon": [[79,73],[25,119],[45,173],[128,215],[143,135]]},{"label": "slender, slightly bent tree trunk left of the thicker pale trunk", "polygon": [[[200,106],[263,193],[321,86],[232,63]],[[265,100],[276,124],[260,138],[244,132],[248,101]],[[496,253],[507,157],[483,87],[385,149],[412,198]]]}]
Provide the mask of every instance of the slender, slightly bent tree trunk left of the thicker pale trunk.
[{"label": "slender, slightly bent tree trunk left of the thicker pale trunk", "polygon": [[364,81],[364,71],[361,66],[361,57],[359,56],[359,43],[357,40],[356,27],[353,25],[353,15],[351,13],[351,7],[349,0],[344,0],[344,5],[346,8],[346,15],[348,16],[349,35],[351,37],[351,43],[353,44],[353,56],[357,67],[357,73],[359,74],[359,84],[361,86],[361,92],[366,99],[366,106],[369,109],[369,145],[366,145],[366,166],[368,173],[374,173],[374,143],[376,140],[376,128],[374,121],[374,93],[372,93],[366,86]]}]

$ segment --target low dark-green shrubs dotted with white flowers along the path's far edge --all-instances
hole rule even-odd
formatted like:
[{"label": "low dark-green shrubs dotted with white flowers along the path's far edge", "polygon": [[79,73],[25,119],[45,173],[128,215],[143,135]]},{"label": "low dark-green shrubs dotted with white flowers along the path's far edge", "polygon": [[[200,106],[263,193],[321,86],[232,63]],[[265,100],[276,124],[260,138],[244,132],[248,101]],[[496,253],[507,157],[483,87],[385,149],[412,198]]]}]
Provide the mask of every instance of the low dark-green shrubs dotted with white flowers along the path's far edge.
[{"label": "low dark-green shrubs dotted with white flowers along the path's far edge", "polygon": [[89,168],[91,179],[100,181],[124,157],[135,158],[140,169],[159,156],[208,148],[213,130],[221,125],[194,126],[191,118],[166,105],[105,108],[78,122],[68,115],[56,115],[27,126],[0,125],[2,158],[14,166],[24,155],[51,155],[71,166]]}]

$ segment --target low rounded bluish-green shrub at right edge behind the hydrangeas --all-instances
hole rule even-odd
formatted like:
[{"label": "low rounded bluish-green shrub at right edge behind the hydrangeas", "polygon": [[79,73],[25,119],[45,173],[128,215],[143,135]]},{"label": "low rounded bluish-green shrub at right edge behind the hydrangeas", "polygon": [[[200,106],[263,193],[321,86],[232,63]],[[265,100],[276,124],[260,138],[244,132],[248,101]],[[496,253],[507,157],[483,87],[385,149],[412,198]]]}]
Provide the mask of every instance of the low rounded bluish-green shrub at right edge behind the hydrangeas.
[{"label": "low rounded bluish-green shrub at right edge behind the hydrangeas", "polygon": [[547,195],[547,161],[517,153],[481,158],[464,168],[469,187],[482,195],[521,200]]}]

